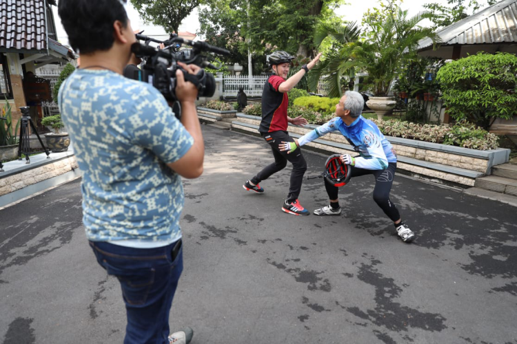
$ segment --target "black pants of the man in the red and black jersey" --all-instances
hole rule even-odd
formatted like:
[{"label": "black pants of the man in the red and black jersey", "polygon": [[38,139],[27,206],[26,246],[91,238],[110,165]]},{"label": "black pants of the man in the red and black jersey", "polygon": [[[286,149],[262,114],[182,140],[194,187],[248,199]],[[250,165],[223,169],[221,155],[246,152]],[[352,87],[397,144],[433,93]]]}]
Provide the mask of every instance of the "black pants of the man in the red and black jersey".
[{"label": "black pants of the man in the red and black jersey", "polygon": [[281,171],[287,166],[287,161],[292,163],[291,184],[289,186],[289,194],[287,195],[287,202],[292,202],[298,199],[300,195],[301,184],[303,182],[303,175],[307,171],[307,162],[303,158],[300,147],[295,151],[287,154],[287,151],[280,151],[280,144],[284,142],[294,142],[287,131],[273,131],[271,133],[263,133],[262,137],[270,144],[273,151],[274,162],[257,173],[252,179],[253,184],[259,184],[263,180],[270,178],[273,173]]}]

